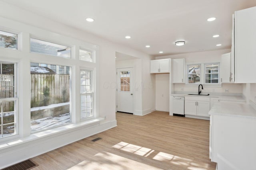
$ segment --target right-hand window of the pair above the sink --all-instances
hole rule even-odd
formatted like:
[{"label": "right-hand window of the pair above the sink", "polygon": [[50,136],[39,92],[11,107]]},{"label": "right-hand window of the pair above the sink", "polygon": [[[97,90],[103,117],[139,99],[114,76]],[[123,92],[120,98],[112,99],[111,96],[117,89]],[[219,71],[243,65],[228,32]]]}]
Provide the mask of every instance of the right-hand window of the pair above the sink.
[{"label": "right-hand window of the pair above the sink", "polygon": [[205,83],[219,83],[219,64],[205,64]]}]

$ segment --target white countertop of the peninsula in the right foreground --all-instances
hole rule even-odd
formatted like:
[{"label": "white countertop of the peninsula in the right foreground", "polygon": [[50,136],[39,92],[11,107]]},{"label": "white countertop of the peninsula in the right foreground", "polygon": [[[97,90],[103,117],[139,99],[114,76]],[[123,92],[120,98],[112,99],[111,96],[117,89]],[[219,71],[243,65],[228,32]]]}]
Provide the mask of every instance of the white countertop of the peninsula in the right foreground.
[{"label": "white countertop of the peninsula in the right foreground", "polygon": [[212,106],[209,115],[229,115],[256,119],[256,111],[249,104],[218,103]]}]

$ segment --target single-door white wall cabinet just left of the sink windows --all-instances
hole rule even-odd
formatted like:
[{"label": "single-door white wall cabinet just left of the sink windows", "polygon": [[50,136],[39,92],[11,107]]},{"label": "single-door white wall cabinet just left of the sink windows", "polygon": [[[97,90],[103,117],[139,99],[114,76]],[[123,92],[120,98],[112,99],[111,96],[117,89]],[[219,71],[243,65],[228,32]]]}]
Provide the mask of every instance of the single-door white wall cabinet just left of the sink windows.
[{"label": "single-door white wall cabinet just left of the sink windows", "polygon": [[172,60],[172,83],[185,83],[185,59]]}]

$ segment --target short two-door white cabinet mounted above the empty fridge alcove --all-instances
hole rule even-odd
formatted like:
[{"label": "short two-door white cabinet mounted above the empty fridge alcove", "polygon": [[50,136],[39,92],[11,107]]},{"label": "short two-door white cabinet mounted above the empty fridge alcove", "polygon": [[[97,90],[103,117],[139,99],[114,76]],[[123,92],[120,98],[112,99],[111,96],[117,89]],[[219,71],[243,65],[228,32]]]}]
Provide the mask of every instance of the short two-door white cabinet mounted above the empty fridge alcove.
[{"label": "short two-door white cabinet mounted above the empty fridge alcove", "polygon": [[170,73],[170,59],[151,60],[150,73]]}]

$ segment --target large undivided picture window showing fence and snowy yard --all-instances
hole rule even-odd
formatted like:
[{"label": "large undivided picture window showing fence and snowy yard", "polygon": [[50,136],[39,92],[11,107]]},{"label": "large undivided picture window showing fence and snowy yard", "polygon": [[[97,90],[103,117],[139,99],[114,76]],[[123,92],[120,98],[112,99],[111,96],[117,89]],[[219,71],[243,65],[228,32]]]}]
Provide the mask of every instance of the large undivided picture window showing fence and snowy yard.
[{"label": "large undivided picture window showing fence and snowy yard", "polygon": [[[70,74],[30,64],[31,131],[45,130],[70,123]],[[61,68],[68,66],[51,65]]]}]

